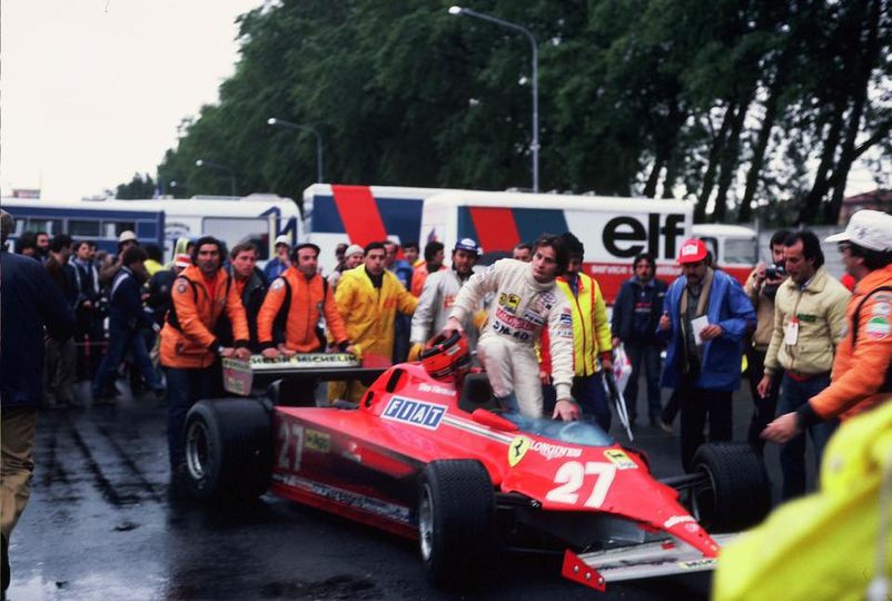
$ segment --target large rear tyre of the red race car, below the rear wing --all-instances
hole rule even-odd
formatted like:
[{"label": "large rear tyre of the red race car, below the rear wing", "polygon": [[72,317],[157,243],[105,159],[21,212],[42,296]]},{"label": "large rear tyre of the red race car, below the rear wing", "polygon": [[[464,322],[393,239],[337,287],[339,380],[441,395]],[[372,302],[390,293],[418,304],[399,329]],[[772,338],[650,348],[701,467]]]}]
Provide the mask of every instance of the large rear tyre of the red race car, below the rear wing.
[{"label": "large rear tyre of the red race car, below the rear wing", "polygon": [[255,398],[199,401],[186,416],[186,485],[201,500],[249,500],[272,473],[269,407]]}]

